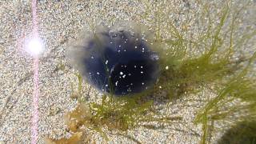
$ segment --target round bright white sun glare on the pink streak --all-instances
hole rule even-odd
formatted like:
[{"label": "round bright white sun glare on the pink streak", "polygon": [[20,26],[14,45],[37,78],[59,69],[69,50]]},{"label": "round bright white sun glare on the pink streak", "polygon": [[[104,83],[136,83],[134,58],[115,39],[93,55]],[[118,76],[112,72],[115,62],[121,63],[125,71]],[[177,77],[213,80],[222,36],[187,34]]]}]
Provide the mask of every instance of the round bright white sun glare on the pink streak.
[{"label": "round bright white sun glare on the pink streak", "polygon": [[42,54],[43,49],[44,45],[41,38],[29,38],[26,41],[25,50],[33,57],[37,57],[39,54]]}]

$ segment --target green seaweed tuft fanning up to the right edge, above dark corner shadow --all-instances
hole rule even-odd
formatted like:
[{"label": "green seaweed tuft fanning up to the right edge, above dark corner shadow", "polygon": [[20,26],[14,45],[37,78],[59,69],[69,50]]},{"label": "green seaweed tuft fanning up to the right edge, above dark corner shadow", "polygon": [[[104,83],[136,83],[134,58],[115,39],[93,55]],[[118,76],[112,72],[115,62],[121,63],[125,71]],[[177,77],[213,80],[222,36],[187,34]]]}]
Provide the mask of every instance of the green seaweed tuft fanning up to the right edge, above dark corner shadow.
[{"label": "green seaweed tuft fanning up to the right edge, above dark corner shadow", "polygon": [[[254,78],[248,78],[246,74],[254,61],[256,53],[250,58],[247,66],[233,78],[230,78],[224,88],[218,90],[217,97],[206,104],[201,112],[198,112],[195,122],[203,124],[202,143],[206,143],[210,122],[229,121],[239,122],[246,119],[256,119],[256,84]],[[242,104],[231,104],[239,100]],[[238,114],[236,116],[235,114]]]}]

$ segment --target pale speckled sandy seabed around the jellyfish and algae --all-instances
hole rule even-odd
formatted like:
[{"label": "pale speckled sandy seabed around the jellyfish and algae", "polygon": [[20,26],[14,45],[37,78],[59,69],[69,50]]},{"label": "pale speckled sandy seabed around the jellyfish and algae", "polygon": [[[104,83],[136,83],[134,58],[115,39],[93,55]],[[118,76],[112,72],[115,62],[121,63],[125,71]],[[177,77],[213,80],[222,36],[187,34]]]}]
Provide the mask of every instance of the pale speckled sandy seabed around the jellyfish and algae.
[{"label": "pale speckled sandy seabed around the jellyfish and algae", "polygon": [[[191,36],[196,35],[197,16],[202,12],[196,2],[165,2],[175,26],[179,29],[182,28],[181,22],[187,22],[186,26],[191,27]],[[75,70],[66,62],[65,54],[69,43],[78,39],[81,31],[101,22],[111,25],[111,22],[134,21],[150,26],[150,18],[139,17],[145,10],[146,6],[142,2],[130,0],[38,1],[38,31],[45,42],[38,70],[38,143],[44,143],[44,138],[70,136],[63,114],[74,110],[76,106],[77,102],[70,95],[71,85],[78,80]],[[22,42],[32,31],[31,1],[0,0],[0,23],[0,143],[30,143],[34,90],[33,58],[22,51]],[[64,70],[58,70],[60,65],[64,65]],[[206,92],[198,95],[202,98]],[[142,143],[200,142],[201,126],[195,126],[193,120],[196,110],[203,106],[203,102],[188,101],[198,98],[198,95],[179,99],[168,108],[159,105],[163,114],[181,116],[182,122],[186,124],[174,124],[161,130],[138,127],[127,133]],[[89,101],[97,99],[98,97],[92,95]],[[122,136],[109,136],[110,143],[134,143]],[[95,142],[102,142],[99,134],[95,134],[94,138]]]}]

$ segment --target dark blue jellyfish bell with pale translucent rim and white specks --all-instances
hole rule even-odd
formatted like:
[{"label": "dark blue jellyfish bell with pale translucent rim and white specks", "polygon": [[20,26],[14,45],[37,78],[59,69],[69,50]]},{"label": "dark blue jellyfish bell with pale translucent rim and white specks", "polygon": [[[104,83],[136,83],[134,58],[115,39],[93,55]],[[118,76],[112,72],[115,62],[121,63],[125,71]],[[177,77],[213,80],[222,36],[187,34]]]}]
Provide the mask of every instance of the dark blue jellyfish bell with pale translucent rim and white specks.
[{"label": "dark blue jellyfish bell with pale translucent rim and white specks", "polygon": [[96,27],[70,46],[67,56],[83,78],[114,95],[137,94],[158,78],[158,54],[152,34],[133,22]]}]

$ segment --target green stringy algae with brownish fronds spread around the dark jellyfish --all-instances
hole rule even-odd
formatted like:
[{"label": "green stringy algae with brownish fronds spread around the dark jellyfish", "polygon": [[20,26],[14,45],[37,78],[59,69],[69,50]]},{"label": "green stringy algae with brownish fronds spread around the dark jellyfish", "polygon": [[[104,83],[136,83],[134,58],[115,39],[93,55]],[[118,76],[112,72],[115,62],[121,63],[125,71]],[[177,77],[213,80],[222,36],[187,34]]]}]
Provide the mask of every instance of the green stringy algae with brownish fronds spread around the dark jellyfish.
[{"label": "green stringy algae with brownish fronds spread around the dark jellyfish", "polygon": [[[147,18],[151,11],[157,11],[154,23],[150,27],[154,31],[154,45],[158,47],[161,67],[160,78],[155,85],[141,94],[116,98],[104,94],[101,102],[86,102],[82,92],[82,77],[78,76],[78,107],[66,114],[66,124],[74,133],[70,139],[51,140],[55,143],[89,142],[90,138],[82,137],[84,129],[97,131],[106,140],[105,129],[118,130],[123,134],[136,126],[143,126],[143,122],[162,122],[171,124],[182,118],[168,118],[158,115],[154,109],[154,97],[166,91],[169,102],[181,98],[184,94],[196,94],[204,87],[215,95],[210,98],[202,110],[198,111],[195,124],[202,125],[202,143],[210,143],[210,133],[214,131],[214,122],[245,122],[246,119],[256,117],[256,89],[254,59],[256,54],[234,58],[237,51],[256,35],[255,30],[247,31],[239,38],[238,18],[246,6],[232,6],[232,1],[223,2],[222,9],[216,17],[210,16],[210,5],[198,1],[202,6],[202,22],[206,19],[206,30],[196,38],[187,38],[186,29],[178,30],[172,20],[163,11],[168,11],[164,2],[151,4],[143,1],[146,6],[142,18]],[[154,10],[152,10],[154,9]],[[162,21],[167,25],[163,26]],[[215,22],[218,21],[218,22]],[[170,37],[165,38],[164,32]],[[202,50],[192,54],[190,50]],[[210,87],[210,88],[209,88]],[[92,88],[89,86],[88,90]],[[144,125],[150,128],[150,125]],[[152,127],[152,126],[151,126]],[[243,134],[250,134],[247,129]],[[136,142],[136,139],[131,138]]]}]

